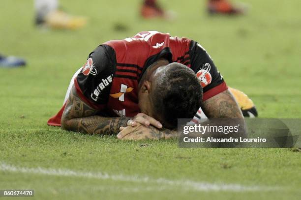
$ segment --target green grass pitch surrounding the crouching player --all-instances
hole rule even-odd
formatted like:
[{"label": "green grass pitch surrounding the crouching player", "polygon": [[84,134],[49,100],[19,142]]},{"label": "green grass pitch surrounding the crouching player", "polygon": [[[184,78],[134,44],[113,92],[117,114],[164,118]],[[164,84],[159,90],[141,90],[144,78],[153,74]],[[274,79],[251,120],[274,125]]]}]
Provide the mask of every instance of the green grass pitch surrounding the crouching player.
[{"label": "green grass pitch surrounding the crouching player", "polygon": [[176,140],[123,142],[46,124],[90,51],[142,30],[201,43],[260,117],[300,118],[301,1],[241,1],[247,15],[209,17],[205,0],[159,0],[177,19],[145,21],[141,0],[61,0],[89,23],[49,31],[33,26],[32,1],[2,0],[0,52],[28,66],[0,68],[0,189],[34,189],[34,199],[49,200],[300,199],[298,149],[182,149]]}]

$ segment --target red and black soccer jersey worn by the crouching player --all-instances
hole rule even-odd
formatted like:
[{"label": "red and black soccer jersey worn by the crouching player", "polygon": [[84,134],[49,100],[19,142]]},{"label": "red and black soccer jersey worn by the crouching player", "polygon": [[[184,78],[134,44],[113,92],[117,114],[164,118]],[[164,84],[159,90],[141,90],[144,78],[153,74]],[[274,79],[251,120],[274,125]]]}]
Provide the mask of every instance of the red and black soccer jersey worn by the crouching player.
[{"label": "red and black soccer jersey worn by the crouching player", "polygon": [[140,112],[138,83],[146,69],[162,57],[169,62],[180,62],[197,74],[204,101],[227,89],[200,44],[157,31],[140,32],[98,46],[75,78],[75,87],[79,96],[95,109],[112,116],[134,116]]}]

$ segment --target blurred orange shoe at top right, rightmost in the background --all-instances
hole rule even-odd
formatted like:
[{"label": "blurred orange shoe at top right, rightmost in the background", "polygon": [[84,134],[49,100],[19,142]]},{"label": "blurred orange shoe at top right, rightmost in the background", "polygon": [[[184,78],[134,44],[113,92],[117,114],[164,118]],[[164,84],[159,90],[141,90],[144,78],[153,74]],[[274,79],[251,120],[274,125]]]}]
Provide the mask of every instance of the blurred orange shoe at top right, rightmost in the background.
[{"label": "blurred orange shoe at top right, rightmost in the background", "polygon": [[232,5],[228,0],[209,0],[210,14],[243,14],[245,8]]}]

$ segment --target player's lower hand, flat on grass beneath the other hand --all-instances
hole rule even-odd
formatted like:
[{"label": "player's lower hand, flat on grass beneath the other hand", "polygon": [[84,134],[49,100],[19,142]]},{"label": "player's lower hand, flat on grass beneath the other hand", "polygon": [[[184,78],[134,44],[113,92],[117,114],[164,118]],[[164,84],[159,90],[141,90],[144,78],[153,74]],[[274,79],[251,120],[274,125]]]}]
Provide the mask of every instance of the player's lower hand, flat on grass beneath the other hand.
[{"label": "player's lower hand, flat on grass beneath the other hand", "polygon": [[161,128],[160,130],[153,126],[145,126],[141,123],[137,123],[136,126],[127,126],[121,128],[122,131],[117,135],[118,139],[121,140],[143,140],[143,139],[170,139],[177,137],[176,130],[169,130],[166,128]]}]

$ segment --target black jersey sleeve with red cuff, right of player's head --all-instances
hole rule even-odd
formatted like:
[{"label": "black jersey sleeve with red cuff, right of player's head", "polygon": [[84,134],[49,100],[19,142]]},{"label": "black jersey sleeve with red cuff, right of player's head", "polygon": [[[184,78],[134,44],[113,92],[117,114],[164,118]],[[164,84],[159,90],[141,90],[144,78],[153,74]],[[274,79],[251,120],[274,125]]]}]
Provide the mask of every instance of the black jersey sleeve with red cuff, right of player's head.
[{"label": "black jersey sleeve with red cuff, right of player's head", "polygon": [[196,73],[203,87],[203,101],[228,89],[209,54],[193,40],[190,43],[189,56],[191,57],[190,68]]}]

